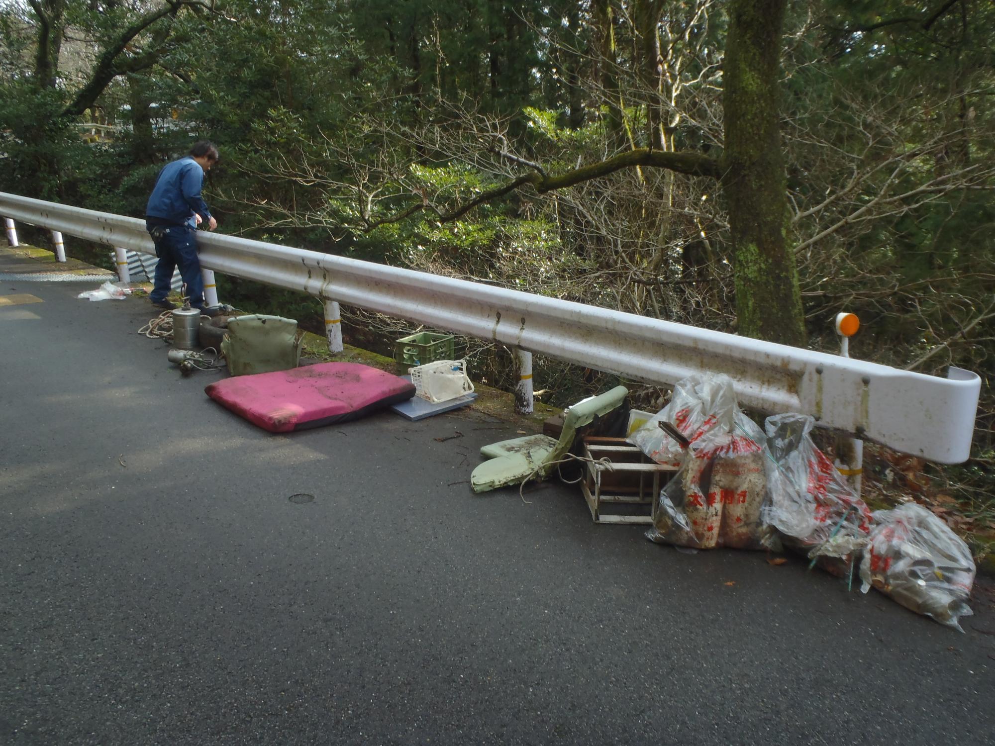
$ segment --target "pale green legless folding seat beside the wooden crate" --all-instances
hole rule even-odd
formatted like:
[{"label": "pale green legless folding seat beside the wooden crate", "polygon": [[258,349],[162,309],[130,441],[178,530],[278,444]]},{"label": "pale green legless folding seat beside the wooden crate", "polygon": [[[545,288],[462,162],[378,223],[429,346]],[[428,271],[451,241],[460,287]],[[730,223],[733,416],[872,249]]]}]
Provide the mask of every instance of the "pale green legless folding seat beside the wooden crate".
[{"label": "pale green legless folding seat beside the wooden crate", "polygon": [[556,462],[570,450],[577,428],[590,425],[595,417],[603,417],[618,409],[628,393],[625,386],[616,386],[611,391],[570,407],[563,418],[563,430],[558,441],[545,435],[533,435],[485,446],[481,449],[481,456],[490,458],[490,461],[477,466],[471,474],[470,483],[474,491],[487,492],[529,476],[545,478],[556,467]]}]

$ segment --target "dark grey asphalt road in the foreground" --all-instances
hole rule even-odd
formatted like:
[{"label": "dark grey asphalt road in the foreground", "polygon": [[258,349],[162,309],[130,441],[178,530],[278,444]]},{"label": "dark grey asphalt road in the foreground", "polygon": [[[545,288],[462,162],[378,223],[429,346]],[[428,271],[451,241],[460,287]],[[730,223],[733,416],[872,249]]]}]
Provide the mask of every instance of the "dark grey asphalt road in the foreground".
[{"label": "dark grey asphalt road in the foreground", "polygon": [[985,592],[961,635],[475,496],[473,413],[267,434],[93,286],[0,284],[0,743],[992,742]]}]

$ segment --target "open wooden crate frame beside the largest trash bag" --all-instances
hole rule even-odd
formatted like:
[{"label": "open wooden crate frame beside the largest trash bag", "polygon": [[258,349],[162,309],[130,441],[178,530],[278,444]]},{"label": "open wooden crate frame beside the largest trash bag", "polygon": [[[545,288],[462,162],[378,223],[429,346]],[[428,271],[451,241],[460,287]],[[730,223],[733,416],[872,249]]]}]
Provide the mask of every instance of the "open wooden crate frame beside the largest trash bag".
[{"label": "open wooden crate frame beside the largest trash bag", "polygon": [[[594,522],[652,523],[653,504],[677,467],[656,464],[624,438],[589,437],[581,443],[583,456],[589,461],[584,463],[580,488]],[[619,505],[637,509],[619,512]],[[638,509],[640,505],[645,509]]]}]

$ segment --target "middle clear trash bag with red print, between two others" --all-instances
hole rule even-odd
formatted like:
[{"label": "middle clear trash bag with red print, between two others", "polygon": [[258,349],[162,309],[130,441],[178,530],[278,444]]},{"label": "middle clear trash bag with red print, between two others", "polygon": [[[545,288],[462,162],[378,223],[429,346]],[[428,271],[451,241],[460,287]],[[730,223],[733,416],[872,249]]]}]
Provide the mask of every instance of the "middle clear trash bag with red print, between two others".
[{"label": "middle clear trash bag with red print, between two others", "polygon": [[813,427],[815,420],[808,415],[775,415],[764,421],[770,465],[763,522],[784,545],[845,577],[868,542],[873,519],[864,500],[812,442]]}]

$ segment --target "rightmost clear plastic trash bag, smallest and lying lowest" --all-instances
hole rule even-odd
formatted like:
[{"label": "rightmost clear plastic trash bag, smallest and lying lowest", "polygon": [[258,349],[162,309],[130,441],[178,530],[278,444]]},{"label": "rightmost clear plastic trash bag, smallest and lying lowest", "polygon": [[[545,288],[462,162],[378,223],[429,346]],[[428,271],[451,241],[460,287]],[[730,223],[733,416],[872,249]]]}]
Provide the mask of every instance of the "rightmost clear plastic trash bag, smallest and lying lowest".
[{"label": "rightmost clear plastic trash bag, smallest and lying lowest", "polygon": [[861,590],[872,586],[916,614],[963,632],[975,566],[967,544],[942,520],[910,502],[874,513],[878,525],[861,562]]}]

